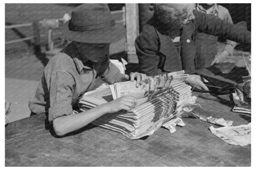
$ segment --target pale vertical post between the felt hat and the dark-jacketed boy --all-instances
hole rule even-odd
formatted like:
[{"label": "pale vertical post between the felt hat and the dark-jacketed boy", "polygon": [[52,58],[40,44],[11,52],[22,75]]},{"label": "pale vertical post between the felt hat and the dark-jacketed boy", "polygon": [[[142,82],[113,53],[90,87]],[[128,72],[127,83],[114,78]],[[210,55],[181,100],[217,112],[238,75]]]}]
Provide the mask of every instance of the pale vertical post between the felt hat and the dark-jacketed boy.
[{"label": "pale vertical post between the felt hat and the dark-jacketed boy", "polygon": [[126,52],[128,63],[138,63],[134,45],[138,31],[138,4],[126,4]]}]

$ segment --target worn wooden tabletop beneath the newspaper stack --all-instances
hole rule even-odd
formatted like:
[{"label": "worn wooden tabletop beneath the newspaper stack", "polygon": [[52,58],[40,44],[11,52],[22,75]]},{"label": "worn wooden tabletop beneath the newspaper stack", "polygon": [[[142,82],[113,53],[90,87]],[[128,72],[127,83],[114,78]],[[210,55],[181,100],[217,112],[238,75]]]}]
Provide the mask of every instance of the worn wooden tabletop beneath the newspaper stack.
[{"label": "worn wooden tabletop beneath the newspaper stack", "polygon": [[[245,114],[222,112],[228,107],[223,104],[198,102],[201,115],[234,120],[234,125],[250,122]],[[6,166],[250,166],[250,145],[226,144],[210,133],[212,124],[196,118],[183,121],[186,126],[173,134],[160,128],[137,140],[94,125],[57,137],[44,115],[36,115],[7,125]]]}]

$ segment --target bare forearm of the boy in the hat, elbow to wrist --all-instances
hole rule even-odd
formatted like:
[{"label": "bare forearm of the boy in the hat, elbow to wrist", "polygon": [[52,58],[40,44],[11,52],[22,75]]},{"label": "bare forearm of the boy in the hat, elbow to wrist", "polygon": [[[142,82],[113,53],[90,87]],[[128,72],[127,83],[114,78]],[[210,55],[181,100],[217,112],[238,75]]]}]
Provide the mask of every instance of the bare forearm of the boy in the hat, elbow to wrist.
[{"label": "bare forearm of the boy in the hat, elbow to wrist", "polygon": [[58,136],[63,136],[86,126],[106,113],[108,113],[107,105],[102,104],[85,112],[55,118],[53,121],[54,131]]}]

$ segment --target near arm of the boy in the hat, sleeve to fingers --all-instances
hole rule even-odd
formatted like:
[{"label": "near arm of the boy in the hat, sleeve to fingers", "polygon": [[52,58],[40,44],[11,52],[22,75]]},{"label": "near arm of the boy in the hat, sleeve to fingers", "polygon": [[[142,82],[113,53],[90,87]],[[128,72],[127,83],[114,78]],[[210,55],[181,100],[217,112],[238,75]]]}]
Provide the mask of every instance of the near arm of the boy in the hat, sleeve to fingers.
[{"label": "near arm of the boy in the hat, sleeve to fingers", "polygon": [[74,86],[74,79],[68,72],[58,71],[51,75],[49,121],[53,123],[58,136],[82,128],[106,113],[118,112],[121,109],[129,110],[135,106],[135,99],[126,96],[86,112],[73,114],[71,102]]}]

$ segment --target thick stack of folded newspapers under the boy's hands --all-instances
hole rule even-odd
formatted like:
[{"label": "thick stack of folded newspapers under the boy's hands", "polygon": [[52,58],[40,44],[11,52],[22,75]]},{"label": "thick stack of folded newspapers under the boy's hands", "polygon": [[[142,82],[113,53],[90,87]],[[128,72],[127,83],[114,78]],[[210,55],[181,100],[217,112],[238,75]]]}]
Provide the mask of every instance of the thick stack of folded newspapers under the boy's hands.
[{"label": "thick stack of folded newspapers under the boy's hands", "polygon": [[86,111],[121,96],[134,96],[138,102],[133,109],[105,114],[92,123],[131,139],[149,136],[179,114],[185,104],[194,103],[191,87],[184,82],[187,77],[179,71],[147,77],[138,88],[130,81],[106,85],[85,93],[79,107]]}]

